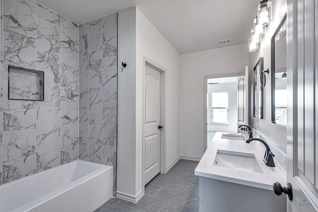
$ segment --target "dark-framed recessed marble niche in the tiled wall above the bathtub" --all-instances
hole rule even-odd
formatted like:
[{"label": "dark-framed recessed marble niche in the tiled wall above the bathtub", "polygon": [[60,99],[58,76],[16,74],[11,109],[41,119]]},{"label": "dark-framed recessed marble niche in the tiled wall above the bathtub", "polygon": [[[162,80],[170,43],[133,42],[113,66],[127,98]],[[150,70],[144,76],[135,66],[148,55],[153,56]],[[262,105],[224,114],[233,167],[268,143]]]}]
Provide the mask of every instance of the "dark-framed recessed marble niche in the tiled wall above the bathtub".
[{"label": "dark-framed recessed marble niche in the tiled wall above the bathtub", "polygon": [[8,99],[44,101],[44,72],[9,66]]}]

